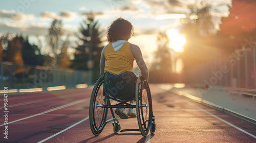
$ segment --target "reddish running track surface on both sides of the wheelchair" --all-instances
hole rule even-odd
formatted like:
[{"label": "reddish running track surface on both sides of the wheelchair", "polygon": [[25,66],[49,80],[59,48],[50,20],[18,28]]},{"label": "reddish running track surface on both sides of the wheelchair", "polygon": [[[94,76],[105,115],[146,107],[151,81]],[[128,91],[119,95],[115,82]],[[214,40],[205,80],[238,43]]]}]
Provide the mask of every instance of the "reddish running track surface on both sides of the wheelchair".
[{"label": "reddish running track surface on both sides of the wheelchair", "polygon": [[[150,85],[153,95],[153,111],[156,116],[155,134],[142,137],[140,132],[113,133],[112,124],[107,124],[99,136],[90,130],[89,102],[86,101],[46,114],[31,117],[10,124],[9,142],[38,142],[55,135],[45,142],[255,142],[255,138],[206,113],[214,114],[230,124],[256,134],[256,127],[239,118],[195,103],[187,98]],[[79,89],[77,89],[79,90]],[[77,91],[76,90],[76,91]],[[90,97],[92,88],[80,90],[83,96],[76,101]],[[59,94],[65,91],[58,91]],[[76,92],[79,94],[79,92]],[[49,98],[49,97],[48,97]],[[74,99],[59,100],[62,105],[74,102]],[[45,103],[47,104],[47,103]],[[58,104],[58,103],[56,103]],[[25,106],[25,105],[24,105]],[[26,105],[27,106],[27,105]],[[23,106],[20,106],[23,107]],[[46,109],[51,106],[46,106]],[[56,107],[56,106],[55,106]],[[198,108],[199,107],[199,108]],[[16,107],[12,107],[16,108]],[[203,110],[205,111],[203,111]],[[15,109],[17,110],[17,109]],[[31,110],[35,113],[35,110]],[[20,112],[19,114],[22,114]],[[38,113],[38,112],[37,112]],[[15,116],[22,116],[16,114]],[[108,118],[111,117],[109,112]],[[79,123],[79,124],[78,124]],[[119,120],[122,129],[138,129],[136,118]],[[76,126],[73,126],[77,124]],[[49,128],[51,127],[51,128]],[[54,128],[55,127],[55,128]],[[17,130],[18,129],[18,130]],[[13,132],[15,131],[15,132]],[[62,132],[61,132],[62,131]]]}]

